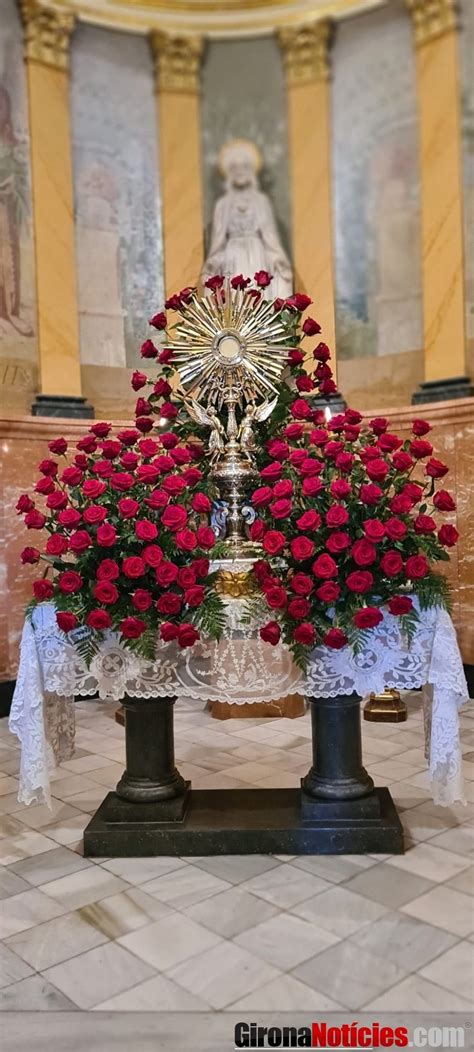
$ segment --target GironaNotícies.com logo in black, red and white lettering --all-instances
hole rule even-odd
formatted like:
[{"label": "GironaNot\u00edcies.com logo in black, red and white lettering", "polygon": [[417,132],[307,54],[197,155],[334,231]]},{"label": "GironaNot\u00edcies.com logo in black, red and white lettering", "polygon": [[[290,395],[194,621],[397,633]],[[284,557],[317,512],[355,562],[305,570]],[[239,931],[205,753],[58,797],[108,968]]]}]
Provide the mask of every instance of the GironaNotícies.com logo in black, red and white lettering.
[{"label": "GironaNot\u00edcies.com logo in black, red and white lettering", "polygon": [[[468,1024],[469,1026],[469,1024]],[[320,1052],[375,1049],[462,1049],[465,1027],[389,1027],[380,1023],[310,1023],[307,1027],[261,1027],[256,1023],[235,1024],[235,1050],[318,1049]]]}]

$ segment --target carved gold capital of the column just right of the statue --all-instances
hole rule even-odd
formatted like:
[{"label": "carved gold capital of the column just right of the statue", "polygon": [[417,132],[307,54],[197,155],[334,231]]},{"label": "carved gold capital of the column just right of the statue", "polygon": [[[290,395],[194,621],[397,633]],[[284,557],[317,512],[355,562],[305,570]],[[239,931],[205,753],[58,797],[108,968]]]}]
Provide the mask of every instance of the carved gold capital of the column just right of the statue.
[{"label": "carved gold capital of the column just right of the statue", "polygon": [[290,86],[328,80],[332,19],[321,18],[295,28],[279,29],[277,37]]}]

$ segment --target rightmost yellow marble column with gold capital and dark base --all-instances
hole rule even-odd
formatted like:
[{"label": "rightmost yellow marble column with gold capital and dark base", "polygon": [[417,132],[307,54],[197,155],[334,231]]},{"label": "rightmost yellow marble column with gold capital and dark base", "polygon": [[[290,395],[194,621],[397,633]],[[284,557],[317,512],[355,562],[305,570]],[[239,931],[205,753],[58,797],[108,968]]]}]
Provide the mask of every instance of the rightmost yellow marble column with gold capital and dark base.
[{"label": "rightmost yellow marble column with gold capital and dark base", "polygon": [[456,0],[406,0],[416,52],[425,382],[413,402],[466,398]]}]

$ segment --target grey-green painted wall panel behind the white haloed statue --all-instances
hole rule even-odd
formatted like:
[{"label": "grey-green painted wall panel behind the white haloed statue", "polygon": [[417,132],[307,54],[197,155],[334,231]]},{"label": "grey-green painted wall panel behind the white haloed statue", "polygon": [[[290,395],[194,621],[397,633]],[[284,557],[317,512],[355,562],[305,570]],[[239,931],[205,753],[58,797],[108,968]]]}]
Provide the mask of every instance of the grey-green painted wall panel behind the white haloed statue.
[{"label": "grey-green painted wall panel behind the white haloed statue", "polygon": [[224,143],[232,139],[249,139],[262,154],[260,185],[270,198],[280,237],[289,251],[286,92],[276,41],[261,38],[208,43],[201,99],[206,252],[213,206],[224,189],[218,157]]}]

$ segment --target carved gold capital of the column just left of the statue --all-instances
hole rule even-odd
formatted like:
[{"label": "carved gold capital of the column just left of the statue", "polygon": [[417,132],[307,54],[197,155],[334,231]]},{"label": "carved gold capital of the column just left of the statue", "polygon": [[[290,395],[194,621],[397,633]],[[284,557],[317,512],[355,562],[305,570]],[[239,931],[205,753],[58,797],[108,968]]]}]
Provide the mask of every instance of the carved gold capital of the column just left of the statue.
[{"label": "carved gold capital of the column just left of the statue", "polygon": [[181,37],[161,29],[150,33],[154,83],[160,92],[199,92],[202,37]]}]

